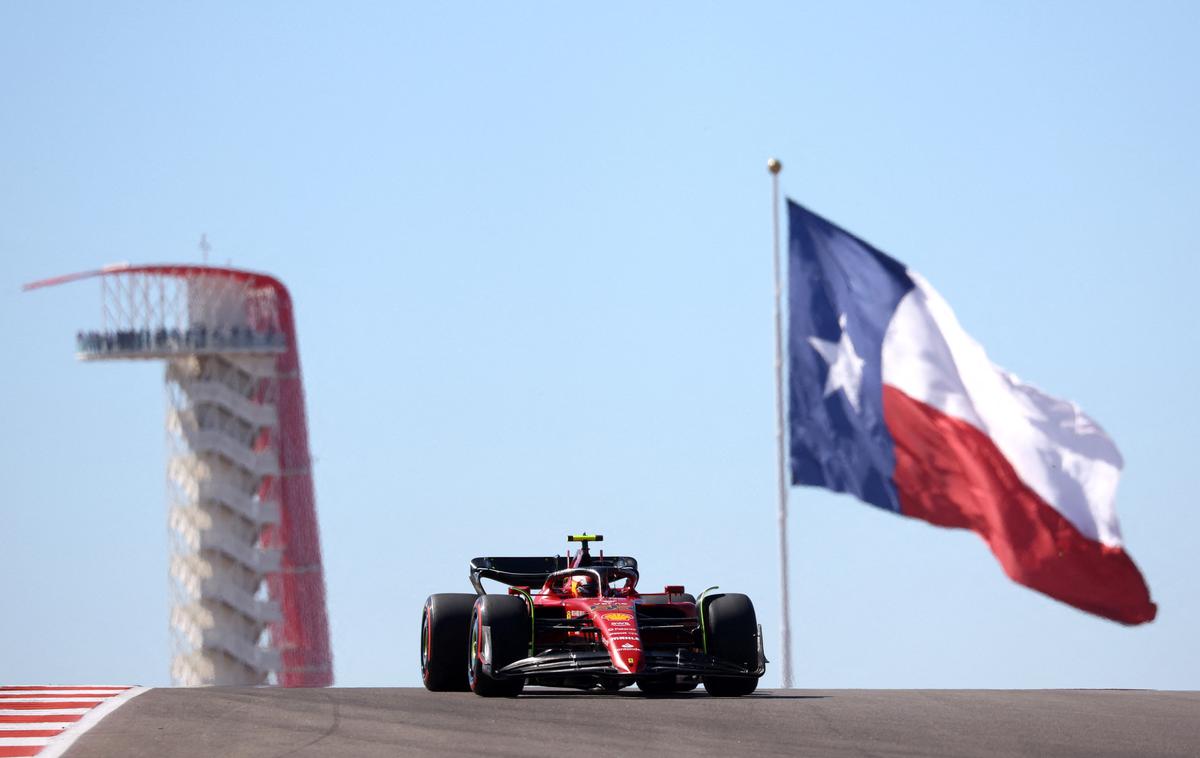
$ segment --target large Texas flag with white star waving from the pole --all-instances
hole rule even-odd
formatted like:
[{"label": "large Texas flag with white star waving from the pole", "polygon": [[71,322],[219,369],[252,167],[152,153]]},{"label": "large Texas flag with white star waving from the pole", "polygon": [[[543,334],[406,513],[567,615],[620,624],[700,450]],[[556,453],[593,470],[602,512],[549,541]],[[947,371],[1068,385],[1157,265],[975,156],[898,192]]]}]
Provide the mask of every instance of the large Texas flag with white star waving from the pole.
[{"label": "large Texas flag with white star waving from the pole", "polygon": [[788,228],[792,481],[971,529],[1014,582],[1152,620],[1099,425],[992,365],[904,264],[792,201]]}]

